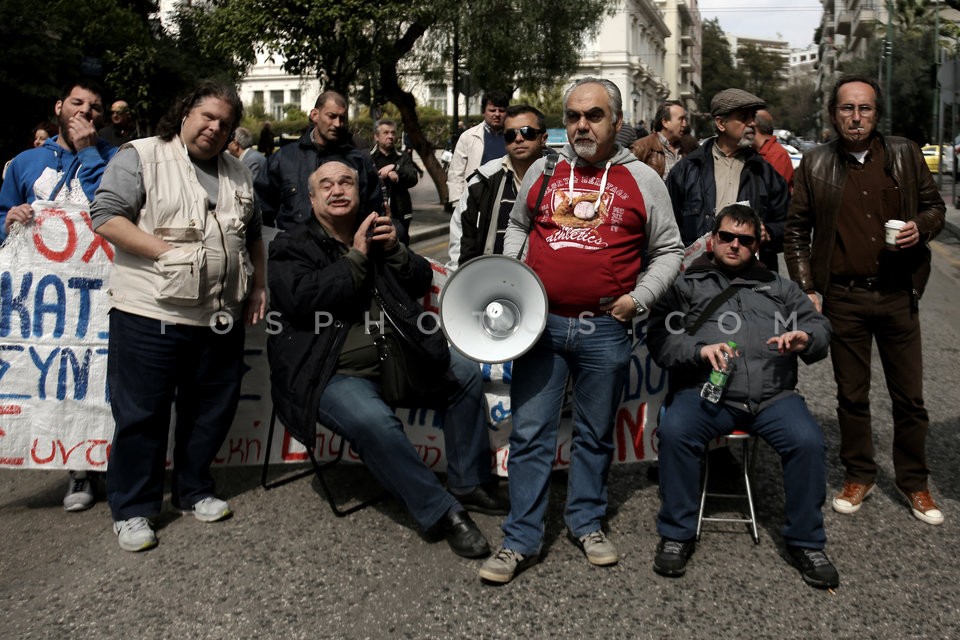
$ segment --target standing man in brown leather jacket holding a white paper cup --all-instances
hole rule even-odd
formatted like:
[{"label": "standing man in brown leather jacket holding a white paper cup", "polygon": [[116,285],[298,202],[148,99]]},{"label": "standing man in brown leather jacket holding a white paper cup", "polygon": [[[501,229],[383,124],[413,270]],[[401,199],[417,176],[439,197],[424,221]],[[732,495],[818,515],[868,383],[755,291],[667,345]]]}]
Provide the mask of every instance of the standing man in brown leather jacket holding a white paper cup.
[{"label": "standing man in brown leather jacket holding a white paper cup", "polygon": [[[828,104],[838,138],[808,151],[797,169],[784,235],[790,277],[833,325],[842,491],[839,513],[856,512],[874,488],[870,354],[877,342],[893,402],[897,489],[915,517],[943,522],[927,485],[919,299],[930,275],[927,242],[944,224],[944,203],[920,149],[877,130],[883,101],[875,81],[841,77]],[[904,221],[895,246],[884,224]],[[811,233],[813,240],[811,242]]]}]

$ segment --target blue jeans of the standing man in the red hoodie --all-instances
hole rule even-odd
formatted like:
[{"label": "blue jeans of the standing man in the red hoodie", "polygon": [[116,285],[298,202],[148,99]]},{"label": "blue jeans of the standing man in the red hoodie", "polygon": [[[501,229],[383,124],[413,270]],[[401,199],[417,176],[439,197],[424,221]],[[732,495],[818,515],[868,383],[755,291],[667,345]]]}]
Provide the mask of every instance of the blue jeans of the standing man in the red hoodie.
[{"label": "blue jeans of the standing man in the red hoodie", "polygon": [[627,327],[609,316],[549,314],[534,347],[513,363],[510,515],[503,546],[539,553],[567,376],[573,377],[573,443],[564,520],[575,536],[600,529],[607,510],[613,421],[630,361]]}]

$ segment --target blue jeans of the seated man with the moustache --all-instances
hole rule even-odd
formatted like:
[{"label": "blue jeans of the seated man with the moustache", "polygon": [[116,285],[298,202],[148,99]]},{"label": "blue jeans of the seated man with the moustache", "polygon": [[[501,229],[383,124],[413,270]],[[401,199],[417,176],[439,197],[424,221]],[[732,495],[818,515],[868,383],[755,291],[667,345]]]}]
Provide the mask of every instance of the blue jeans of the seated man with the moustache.
[{"label": "blue jeans of the seated man with the moustache", "polygon": [[[466,493],[493,479],[493,458],[483,407],[480,366],[451,351],[450,369],[460,389],[443,416],[447,485]],[[320,397],[321,424],[343,436],[370,473],[407,507],[424,530],[451,508],[456,499],[424,464],[403,432],[403,423],[380,398],[380,383],[334,375]]]}]

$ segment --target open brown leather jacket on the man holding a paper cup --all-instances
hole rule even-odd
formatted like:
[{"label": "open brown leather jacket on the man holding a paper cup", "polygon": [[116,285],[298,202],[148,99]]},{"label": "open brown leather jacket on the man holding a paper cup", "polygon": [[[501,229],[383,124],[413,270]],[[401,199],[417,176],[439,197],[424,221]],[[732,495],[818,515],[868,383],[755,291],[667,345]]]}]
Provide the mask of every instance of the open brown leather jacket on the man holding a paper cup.
[{"label": "open brown leather jacket on the man holding a paper cup", "polygon": [[[919,147],[905,138],[877,135],[884,147],[884,169],[900,190],[900,218],[915,221],[921,233],[922,242],[898,256],[901,268],[909,270],[912,288],[919,295],[930,276],[930,250],[926,243],[943,229],[946,206]],[[837,217],[846,183],[847,161],[843,153],[838,140],[811,149],[803,155],[794,177],[783,258],[790,277],[807,293],[823,293],[830,282]]]}]

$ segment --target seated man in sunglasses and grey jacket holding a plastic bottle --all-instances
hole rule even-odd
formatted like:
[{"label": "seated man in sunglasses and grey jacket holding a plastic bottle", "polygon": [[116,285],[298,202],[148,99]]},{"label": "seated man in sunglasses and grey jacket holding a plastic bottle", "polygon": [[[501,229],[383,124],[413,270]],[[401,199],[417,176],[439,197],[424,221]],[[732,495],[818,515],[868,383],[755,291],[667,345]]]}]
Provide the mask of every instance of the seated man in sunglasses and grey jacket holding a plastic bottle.
[{"label": "seated man in sunglasses and grey jacket holding a plastic bottle", "polygon": [[[808,584],[833,588],[840,578],[823,552],[826,447],[796,392],[797,357],[808,364],[826,357],[830,323],[795,283],[757,260],[762,231],[750,207],[724,207],[713,226],[713,252],[697,258],[650,314],[647,345],[670,373],[658,432],[661,538],[653,569],[664,576],[686,571],[696,544],[700,460],[711,440],[737,429],[763,438],[780,456],[787,560]],[[723,352],[736,356],[735,364],[712,403],[700,390],[722,367]]]}]

